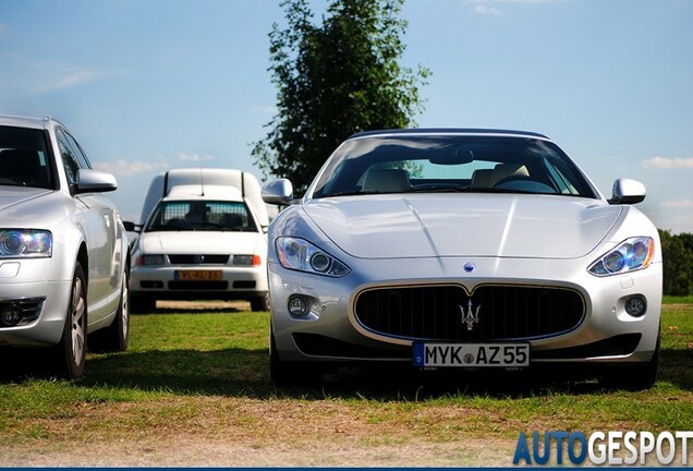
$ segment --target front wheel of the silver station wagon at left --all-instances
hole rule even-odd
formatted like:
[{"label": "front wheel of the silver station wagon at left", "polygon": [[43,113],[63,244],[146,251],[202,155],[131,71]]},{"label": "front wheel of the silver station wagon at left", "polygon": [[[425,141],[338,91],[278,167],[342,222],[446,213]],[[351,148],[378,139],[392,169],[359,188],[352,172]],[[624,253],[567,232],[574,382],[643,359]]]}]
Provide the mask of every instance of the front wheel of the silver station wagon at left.
[{"label": "front wheel of the silver station wagon at left", "polygon": [[56,373],[60,377],[77,379],[84,374],[87,350],[87,285],[82,265],[77,262],[72,278],[70,303],[62,337],[56,347]]}]

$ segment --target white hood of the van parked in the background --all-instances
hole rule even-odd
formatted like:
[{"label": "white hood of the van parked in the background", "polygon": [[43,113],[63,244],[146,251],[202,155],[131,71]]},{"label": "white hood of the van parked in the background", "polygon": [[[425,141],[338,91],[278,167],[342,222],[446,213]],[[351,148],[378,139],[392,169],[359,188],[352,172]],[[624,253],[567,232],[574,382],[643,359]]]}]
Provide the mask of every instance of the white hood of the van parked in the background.
[{"label": "white hood of the van parked in the background", "polygon": [[[257,232],[144,232],[139,250],[146,254],[259,254],[267,241]],[[265,249],[266,250],[266,249]]]}]

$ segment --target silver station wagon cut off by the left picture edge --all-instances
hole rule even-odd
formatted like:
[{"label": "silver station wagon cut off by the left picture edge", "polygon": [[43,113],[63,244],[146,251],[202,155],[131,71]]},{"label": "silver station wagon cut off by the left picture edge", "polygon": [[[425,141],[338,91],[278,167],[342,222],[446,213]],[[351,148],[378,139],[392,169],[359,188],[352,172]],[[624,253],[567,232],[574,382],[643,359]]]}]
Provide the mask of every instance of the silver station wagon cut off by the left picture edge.
[{"label": "silver station wagon cut off by the left picture edge", "polygon": [[59,121],[0,116],[0,349],[41,349],[76,378],[87,336],[127,348],[127,239],[102,194],[115,188]]}]

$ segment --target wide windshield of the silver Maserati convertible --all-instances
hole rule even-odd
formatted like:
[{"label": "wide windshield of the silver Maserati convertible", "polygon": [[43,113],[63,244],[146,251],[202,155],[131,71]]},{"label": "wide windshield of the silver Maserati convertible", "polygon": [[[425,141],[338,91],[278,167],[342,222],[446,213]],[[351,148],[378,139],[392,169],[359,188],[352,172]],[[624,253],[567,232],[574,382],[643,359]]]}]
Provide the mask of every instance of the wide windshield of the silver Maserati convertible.
[{"label": "wide windshield of the silver Maserati convertible", "polygon": [[578,167],[550,142],[422,134],[346,141],[330,158],[313,197],[411,192],[598,197]]}]

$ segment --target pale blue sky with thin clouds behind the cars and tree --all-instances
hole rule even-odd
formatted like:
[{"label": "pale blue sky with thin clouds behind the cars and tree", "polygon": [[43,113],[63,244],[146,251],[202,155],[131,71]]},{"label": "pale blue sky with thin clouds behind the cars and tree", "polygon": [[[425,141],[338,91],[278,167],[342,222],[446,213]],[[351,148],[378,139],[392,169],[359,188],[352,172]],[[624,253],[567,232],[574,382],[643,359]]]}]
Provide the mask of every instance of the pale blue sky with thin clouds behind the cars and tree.
[{"label": "pale blue sky with thin clouds behind the cars and tree", "polygon": [[[408,0],[402,17],[402,63],[433,71],[420,126],[545,133],[607,196],[641,180],[657,227],[693,232],[693,1]],[[125,219],[170,168],[263,180],[275,22],[279,0],[3,0],[0,113],[62,120]]]}]

